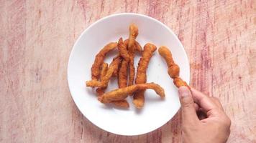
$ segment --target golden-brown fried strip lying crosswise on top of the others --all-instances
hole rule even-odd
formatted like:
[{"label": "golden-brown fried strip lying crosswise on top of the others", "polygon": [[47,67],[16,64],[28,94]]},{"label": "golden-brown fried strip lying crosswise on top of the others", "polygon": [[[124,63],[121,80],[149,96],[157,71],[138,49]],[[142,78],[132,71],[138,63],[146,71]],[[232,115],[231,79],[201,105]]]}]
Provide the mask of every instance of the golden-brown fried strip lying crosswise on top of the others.
[{"label": "golden-brown fried strip lying crosswise on top of the others", "polygon": [[110,103],[114,101],[119,101],[127,98],[129,94],[133,94],[134,92],[145,90],[145,89],[154,89],[155,92],[160,95],[160,97],[165,97],[165,91],[160,85],[154,83],[147,84],[134,84],[129,87],[124,87],[122,89],[115,89],[111,92],[107,92],[99,97],[99,101],[102,103]]}]

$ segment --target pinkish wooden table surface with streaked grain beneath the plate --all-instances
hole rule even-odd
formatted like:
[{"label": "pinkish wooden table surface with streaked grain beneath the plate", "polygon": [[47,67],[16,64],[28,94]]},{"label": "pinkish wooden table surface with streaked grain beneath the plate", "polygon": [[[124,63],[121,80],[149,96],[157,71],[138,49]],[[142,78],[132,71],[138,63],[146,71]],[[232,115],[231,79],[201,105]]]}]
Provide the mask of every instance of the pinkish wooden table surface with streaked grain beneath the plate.
[{"label": "pinkish wooden table surface with streaked grain beneath the plate", "polygon": [[218,97],[228,142],[256,142],[256,1],[0,0],[0,142],[181,142],[180,112],[134,137],[88,122],[70,96],[68,56],[81,32],[109,14],[135,12],[173,29],[191,86]]}]

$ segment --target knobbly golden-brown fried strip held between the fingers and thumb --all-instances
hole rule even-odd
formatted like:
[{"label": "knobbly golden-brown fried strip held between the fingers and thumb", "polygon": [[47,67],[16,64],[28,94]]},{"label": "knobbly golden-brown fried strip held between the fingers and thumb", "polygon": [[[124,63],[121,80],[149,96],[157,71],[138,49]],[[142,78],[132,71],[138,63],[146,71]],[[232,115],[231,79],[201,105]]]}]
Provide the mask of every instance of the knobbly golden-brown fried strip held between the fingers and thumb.
[{"label": "knobbly golden-brown fried strip held between the fingers and thumb", "polygon": [[168,74],[173,79],[173,84],[175,84],[175,86],[178,88],[181,86],[186,86],[190,89],[188,84],[184,82],[183,79],[180,79],[180,67],[173,61],[173,56],[170,50],[165,46],[161,46],[158,49],[158,52],[161,56],[163,56],[168,65]]}]

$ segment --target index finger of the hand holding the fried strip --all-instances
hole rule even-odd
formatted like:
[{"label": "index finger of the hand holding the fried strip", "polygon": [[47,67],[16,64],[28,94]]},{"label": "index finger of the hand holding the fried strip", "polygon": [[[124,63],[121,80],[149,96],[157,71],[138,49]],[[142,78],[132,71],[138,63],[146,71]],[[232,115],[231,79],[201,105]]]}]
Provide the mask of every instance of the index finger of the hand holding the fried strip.
[{"label": "index finger of the hand holding the fried strip", "polygon": [[193,94],[194,102],[196,102],[202,109],[204,109],[208,116],[218,113],[219,107],[210,99],[210,97],[193,88],[191,88],[191,91]]}]

